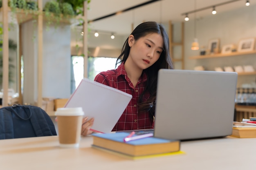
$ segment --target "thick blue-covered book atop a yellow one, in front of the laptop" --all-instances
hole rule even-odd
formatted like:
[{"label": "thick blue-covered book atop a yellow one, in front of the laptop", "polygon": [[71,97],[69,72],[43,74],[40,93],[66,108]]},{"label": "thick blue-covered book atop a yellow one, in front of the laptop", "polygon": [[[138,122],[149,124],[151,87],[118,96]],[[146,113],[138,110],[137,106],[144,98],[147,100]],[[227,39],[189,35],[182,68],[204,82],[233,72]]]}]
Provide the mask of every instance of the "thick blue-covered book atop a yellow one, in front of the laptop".
[{"label": "thick blue-covered book atop a yellow one, in front of the laptop", "polygon": [[156,137],[146,137],[125,142],[127,132],[96,133],[93,134],[92,147],[121,155],[130,159],[141,159],[147,157],[158,157],[174,154],[183,154],[180,151],[179,140],[167,140]]}]

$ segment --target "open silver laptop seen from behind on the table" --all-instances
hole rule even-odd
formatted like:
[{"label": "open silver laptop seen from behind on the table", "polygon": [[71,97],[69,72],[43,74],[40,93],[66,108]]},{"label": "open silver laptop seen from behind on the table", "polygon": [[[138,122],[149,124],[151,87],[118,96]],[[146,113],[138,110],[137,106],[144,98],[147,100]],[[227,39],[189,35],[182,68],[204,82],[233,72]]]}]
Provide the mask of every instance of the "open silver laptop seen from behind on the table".
[{"label": "open silver laptop seen from behind on the table", "polygon": [[160,69],[154,136],[205,139],[231,135],[237,73]]}]

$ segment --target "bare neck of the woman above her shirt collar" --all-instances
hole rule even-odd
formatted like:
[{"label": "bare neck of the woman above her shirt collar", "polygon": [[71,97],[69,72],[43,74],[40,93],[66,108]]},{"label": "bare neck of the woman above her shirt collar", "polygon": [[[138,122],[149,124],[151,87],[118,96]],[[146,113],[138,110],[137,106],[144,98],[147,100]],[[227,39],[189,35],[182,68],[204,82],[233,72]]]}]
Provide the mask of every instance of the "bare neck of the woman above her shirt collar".
[{"label": "bare neck of the woman above her shirt collar", "polygon": [[137,85],[139,77],[141,77],[143,70],[137,67],[130,59],[130,57],[128,57],[126,62],[124,63],[124,68],[126,70],[127,76],[132,82],[132,85],[135,87]]}]

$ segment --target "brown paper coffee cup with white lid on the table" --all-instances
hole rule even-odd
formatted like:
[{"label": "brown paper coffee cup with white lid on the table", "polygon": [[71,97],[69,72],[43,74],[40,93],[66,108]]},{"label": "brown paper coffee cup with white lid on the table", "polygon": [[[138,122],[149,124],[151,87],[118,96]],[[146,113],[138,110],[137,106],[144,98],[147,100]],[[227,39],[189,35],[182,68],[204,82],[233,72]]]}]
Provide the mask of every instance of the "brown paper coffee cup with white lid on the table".
[{"label": "brown paper coffee cup with white lid on the table", "polygon": [[58,137],[61,147],[78,148],[81,138],[83,108],[57,108]]}]

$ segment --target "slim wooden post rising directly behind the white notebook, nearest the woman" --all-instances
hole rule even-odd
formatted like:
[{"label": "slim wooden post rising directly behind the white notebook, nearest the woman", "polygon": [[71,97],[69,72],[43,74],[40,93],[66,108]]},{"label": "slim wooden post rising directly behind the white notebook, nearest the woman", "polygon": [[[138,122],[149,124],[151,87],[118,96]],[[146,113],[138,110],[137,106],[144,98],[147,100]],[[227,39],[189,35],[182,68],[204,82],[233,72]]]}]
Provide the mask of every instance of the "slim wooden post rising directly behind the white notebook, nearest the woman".
[{"label": "slim wooden post rising directly behind the white notebook, nearest the woman", "polygon": [[88,77],[88,19],[87,19],[87,1],[83,2],[83,77]]}]

